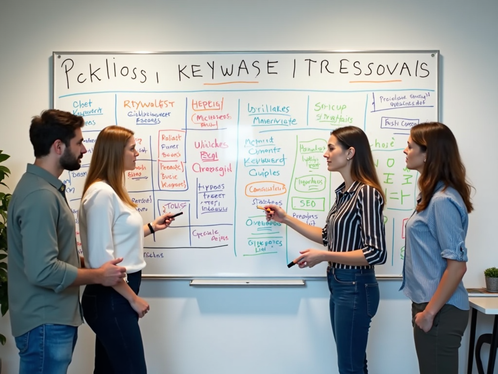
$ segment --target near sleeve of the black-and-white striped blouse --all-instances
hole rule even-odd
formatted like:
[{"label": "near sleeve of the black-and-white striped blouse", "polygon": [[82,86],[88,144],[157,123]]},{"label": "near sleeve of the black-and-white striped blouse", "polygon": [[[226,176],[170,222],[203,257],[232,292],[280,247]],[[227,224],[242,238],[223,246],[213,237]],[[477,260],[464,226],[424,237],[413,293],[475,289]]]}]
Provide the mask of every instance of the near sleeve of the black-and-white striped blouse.
[{"label": "near sleeve of the black-and-white striped blouse", "polygon": [[361,249],[370,265],[381,265],[387,259],[382,195],[367,185],[362,187],[358,197],[360,229],[364,243]]}]

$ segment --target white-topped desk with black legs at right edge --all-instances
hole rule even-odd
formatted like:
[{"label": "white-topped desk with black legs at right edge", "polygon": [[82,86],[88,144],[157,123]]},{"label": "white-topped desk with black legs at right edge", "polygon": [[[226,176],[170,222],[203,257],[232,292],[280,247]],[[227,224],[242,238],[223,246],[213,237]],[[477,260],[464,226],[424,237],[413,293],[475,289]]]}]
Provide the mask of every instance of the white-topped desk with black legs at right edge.
[{"label": "white-topped desk with black legs at right edge", "polygon": [[469,303],[472,311],[472,318],[470,323],[470,342],[467,374],[472,374],[472,366],[474,364],[474,347],[476,344],[476,323],[478,311],[484,314],[491,314],[495,316],[487,370],[488,374],[493,374],[495,370],[495,359],[498,348],[498,297],[469,297]]}]

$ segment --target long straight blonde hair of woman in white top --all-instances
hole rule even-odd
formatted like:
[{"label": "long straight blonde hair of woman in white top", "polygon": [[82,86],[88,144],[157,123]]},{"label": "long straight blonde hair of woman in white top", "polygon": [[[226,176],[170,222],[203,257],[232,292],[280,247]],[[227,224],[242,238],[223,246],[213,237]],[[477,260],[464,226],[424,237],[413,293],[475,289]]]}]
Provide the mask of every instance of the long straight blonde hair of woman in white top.
[{"label": "long straight blonde hair of woman in white top", "polygon": [[137,206],[124,188],[124,148],[133,135],[133,131],[120,126],[108,126],[99,133],[83,195],[92,184],[104,181],[114,189],[125,204],[133,208]]}]

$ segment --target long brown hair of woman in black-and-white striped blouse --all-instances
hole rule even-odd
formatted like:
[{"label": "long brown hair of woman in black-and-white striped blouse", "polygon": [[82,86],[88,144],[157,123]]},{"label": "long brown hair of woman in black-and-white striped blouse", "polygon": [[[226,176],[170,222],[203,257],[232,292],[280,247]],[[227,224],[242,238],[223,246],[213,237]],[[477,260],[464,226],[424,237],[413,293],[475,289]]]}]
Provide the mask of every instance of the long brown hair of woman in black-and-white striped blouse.
[{"label": "long brown hair of woman in black-and-white striped blouse", "polygon": [[356,126],[340,127],[332,131],[330,135],[337,138],[343,149],[347,150],[351,147],[355,149],[355,156],[351,160],[353,163],[351,165],[351,178],[354,181],[359,181],[375,188],[382,196],[385,204],[385,195],[375,171],[372,150],[370,149],[367,135]]}]

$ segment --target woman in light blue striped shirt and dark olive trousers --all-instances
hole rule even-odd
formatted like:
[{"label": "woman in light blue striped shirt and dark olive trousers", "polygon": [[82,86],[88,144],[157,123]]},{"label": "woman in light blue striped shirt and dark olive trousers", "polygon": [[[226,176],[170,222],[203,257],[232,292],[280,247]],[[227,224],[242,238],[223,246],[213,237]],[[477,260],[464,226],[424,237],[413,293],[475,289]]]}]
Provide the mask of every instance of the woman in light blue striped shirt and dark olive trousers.
[{"label": "woman in light blue striped shirt and dark olive trousers", "polygon": [[438,122],[410,131],[406,167],[420,173],[417,206],[406,223],[403,293],[421,374],[457,374],[458,348],[469,320],[465,237],[471,186],[451,130]]}]

